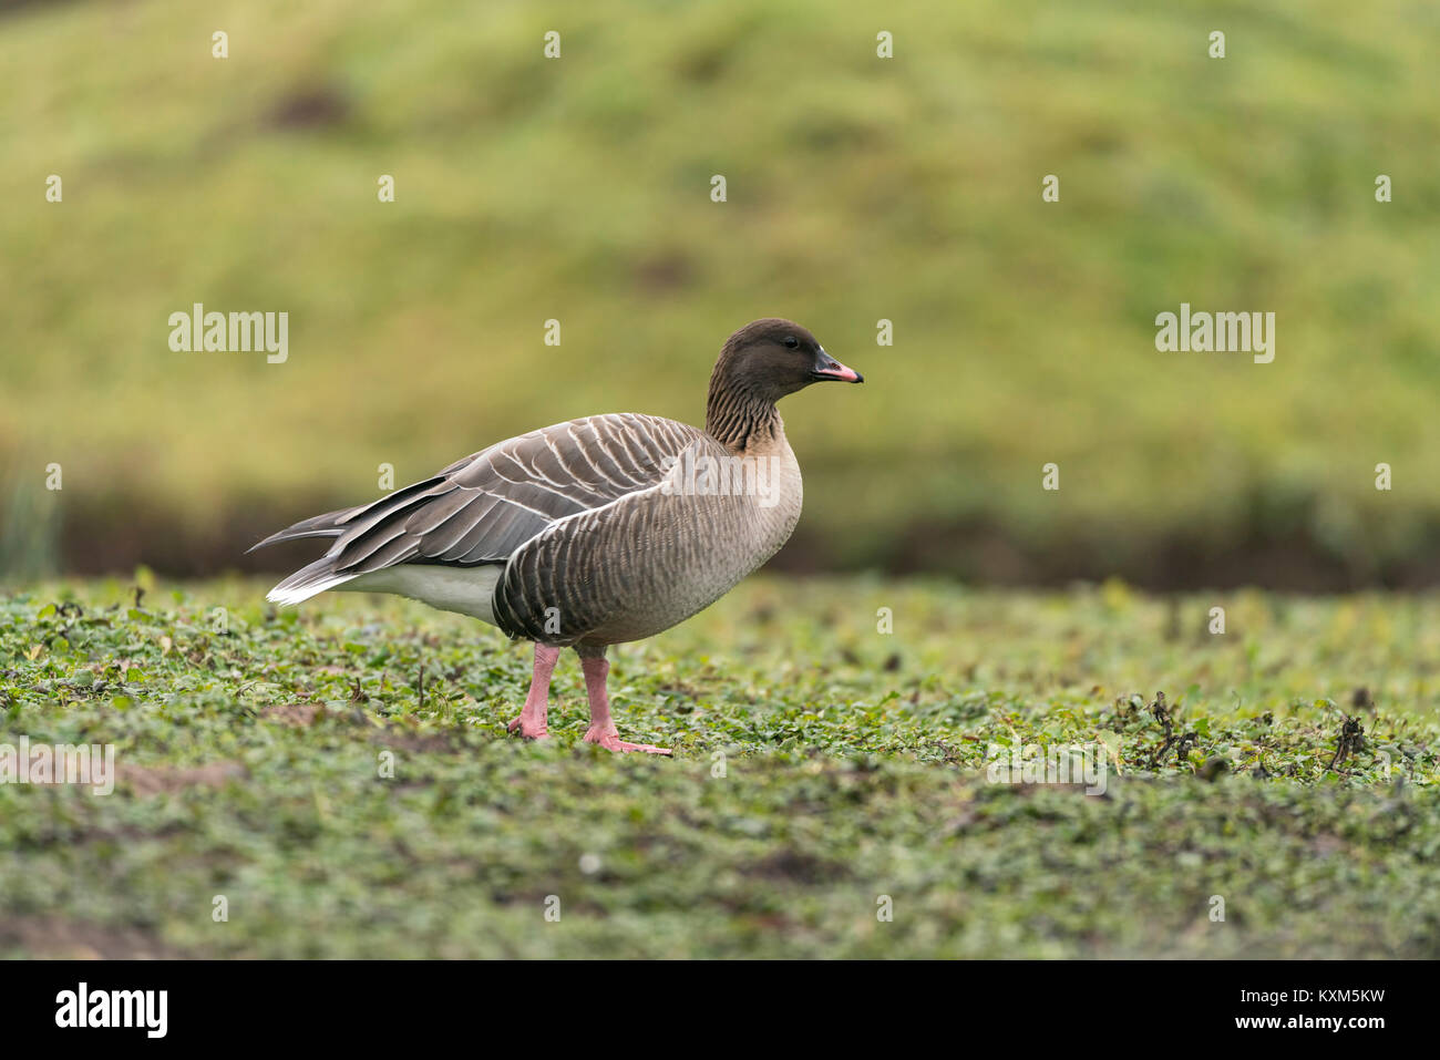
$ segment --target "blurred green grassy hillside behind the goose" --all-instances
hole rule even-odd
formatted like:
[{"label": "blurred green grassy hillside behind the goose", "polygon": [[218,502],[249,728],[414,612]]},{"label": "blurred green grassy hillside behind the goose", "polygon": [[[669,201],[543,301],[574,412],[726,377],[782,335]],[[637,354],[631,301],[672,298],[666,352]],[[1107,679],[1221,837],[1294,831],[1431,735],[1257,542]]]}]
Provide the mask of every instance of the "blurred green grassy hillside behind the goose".
[{"label": "blurred green grassy hillside behind the goose", "polygon": [[[867,379],[782,406],[791,566],[1440,580],[1434,4],[600,7],[0,12],[0,572],[238,566],[382,462],[698,422],[778,314]],[[193,302],[289,360],[173,353]],[[1181,302],[1274,363],[1158,353]]]}]

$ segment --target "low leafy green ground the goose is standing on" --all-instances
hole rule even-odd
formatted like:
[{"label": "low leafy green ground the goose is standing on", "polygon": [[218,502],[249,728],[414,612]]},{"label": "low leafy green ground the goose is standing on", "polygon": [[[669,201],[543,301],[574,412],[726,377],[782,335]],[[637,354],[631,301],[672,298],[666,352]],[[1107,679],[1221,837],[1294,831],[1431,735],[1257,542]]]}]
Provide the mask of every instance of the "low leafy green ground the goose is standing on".
[{"label": "low leafy green ground the goose is standing on", "polygon": [[579,742],[573,657],[528,745],[527,645],[264,588],[3,598],[0,743],[120,781],[0,783],[0,955],[1440,956],[1440,598],[753,580],[612,655],[658,760]]}]

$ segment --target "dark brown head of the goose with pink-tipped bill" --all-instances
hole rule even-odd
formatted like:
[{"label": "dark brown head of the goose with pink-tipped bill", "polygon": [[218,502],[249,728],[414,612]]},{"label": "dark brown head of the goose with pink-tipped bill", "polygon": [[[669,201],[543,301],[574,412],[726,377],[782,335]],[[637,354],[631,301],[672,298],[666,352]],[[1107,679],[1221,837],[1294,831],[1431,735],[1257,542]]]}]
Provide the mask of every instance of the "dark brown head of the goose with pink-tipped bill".
[{"label": "dark brown head of the goose with pink-tipped bill", "polygon": [[710,377],[710,389],[727,389],[776,402],[811,383],[863,383],[864,376],[825,353],[799,324],[768,317],[746,324],[726,341]]}]

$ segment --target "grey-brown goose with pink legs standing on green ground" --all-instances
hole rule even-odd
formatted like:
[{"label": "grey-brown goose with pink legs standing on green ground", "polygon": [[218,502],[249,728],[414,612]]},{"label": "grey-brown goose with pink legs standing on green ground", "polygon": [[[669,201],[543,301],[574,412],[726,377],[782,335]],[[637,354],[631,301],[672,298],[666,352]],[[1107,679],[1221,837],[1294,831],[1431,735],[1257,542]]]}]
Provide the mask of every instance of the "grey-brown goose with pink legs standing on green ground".
[{"label": "grey-brown goose with pink legs standing on green ground", "polygon": [[769,317],[724,343],[706,426],[621,412],[495,442],[380,500],[295,523],[249,552],[333,537],[266,599],[327,590],[422,601],[534,641],[530,691],[510,733],[549,736],[562,648],[580,657],[588,743],[629,743],[611,717],[606,648],[652,637],[714,603],[785,544],[801,470],[775,403],[822,380],[861,383],[799,324]]}]

